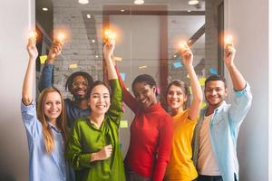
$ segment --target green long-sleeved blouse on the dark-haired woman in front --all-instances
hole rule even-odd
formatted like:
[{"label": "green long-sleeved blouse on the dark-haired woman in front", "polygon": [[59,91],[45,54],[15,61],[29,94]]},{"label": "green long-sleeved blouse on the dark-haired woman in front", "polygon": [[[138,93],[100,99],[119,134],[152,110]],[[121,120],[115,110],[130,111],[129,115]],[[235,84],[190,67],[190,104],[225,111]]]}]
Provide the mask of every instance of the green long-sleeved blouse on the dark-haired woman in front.
[{"label": "green long-sleeved blouse on the dark-haired woman in front", "polygon": [[[105,115],[101,128],[97,129],[88,117],[77,119],[71,130],[65,158],[75,171],[78,181],[125,180],[119,127],[121,120],[121,87],[118,80],[111,80],[111,107]],[[105,160],[90,162],[90,154],[112,144],[112,156]]]}]

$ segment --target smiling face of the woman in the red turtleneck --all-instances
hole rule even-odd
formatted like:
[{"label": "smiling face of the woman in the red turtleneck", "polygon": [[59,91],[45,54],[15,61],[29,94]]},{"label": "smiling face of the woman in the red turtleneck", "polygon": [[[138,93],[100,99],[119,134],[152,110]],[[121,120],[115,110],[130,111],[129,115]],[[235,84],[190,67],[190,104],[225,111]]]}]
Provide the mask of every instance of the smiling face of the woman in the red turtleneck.
[{"label": "smiling face of the woman in the red turtleneck", "polygon": [[151,87],[146,82],[136,82],[133,85],[133,93],[136,98],[140,102],[143,108],[149,108],[151,105],[157,103],[156,98],[156,88]]}]

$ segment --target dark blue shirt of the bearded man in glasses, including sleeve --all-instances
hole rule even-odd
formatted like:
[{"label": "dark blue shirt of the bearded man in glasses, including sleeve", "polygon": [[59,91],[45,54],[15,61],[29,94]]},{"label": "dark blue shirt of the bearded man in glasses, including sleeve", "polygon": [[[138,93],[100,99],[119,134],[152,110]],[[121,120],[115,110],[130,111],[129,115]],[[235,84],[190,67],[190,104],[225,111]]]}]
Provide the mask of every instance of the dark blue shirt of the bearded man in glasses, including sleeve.
[{"label": "dark blue shirt of the bearded man in glasses, including sleeve", "polygon": [[[42,71],[39,81],[40,91],[52,86],[52,76],[53,76],[53,64],[45,62],[44,69]],[[84,116],[90,116],[91,114],[90,108],[82,110],[74,105],[73,100],[66,98],[64,99],[64,102],[67,115],[67,126],[69,129],[72,128],[75,119],[79,119]]]}]

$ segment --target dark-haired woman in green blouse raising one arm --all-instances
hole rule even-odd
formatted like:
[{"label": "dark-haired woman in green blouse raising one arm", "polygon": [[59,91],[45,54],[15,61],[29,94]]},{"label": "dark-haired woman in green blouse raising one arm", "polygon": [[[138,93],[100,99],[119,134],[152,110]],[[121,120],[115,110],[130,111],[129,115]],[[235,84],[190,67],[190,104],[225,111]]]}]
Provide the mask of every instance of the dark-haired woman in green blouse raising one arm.
[{"label": "dark-haired woman in green blouse raising one arm", "polygon": [[119,147],[122,98],[112,62],[114,45],[108,41],[103,47],[112,92],[102,81],[92,84],[88,94],[91,115],[76,120],[68,140],[65,157],[76,180],[125,180]]}]

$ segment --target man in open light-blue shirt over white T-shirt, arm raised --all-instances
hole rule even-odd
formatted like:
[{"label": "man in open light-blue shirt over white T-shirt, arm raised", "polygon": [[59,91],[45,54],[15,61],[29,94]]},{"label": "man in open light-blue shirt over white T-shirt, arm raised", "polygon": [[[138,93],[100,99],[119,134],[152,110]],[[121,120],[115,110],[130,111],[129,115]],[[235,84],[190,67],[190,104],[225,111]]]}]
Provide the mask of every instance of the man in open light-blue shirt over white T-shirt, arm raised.
[{"label": "man in open light-blue shirt over white T-shirt, arm raised", "polygon": [[235,91],[231,104],[225,101],[228,89],[224,78],[211,75],[205,81],[208,107],[200,113],[192,141],[199,181],[238,180],[238,130],[251,106],[252,95],[233,62],[235,52],[232,44],[227,44],[224,62]]}]

